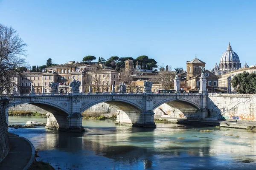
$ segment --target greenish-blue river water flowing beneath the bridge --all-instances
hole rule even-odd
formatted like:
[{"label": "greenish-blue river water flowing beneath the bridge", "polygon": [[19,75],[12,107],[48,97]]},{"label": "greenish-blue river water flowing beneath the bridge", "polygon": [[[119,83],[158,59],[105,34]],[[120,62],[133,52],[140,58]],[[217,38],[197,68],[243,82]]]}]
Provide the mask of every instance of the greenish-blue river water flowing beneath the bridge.
[{"label": "greenish-blue river water flowing beneath the bridge", "polygon": [[[46,118],[10,116],[9,124]],[[156,129],[83,120],[84,133],[9,128],[29,139],[38,161],[62,170],[255,170],[256,133],[158,123]],[[200,130],[214,130],[200,132]],[[233,135],[233,136],[228,136]],[[240,137],[236,137],[240,136]]]}]

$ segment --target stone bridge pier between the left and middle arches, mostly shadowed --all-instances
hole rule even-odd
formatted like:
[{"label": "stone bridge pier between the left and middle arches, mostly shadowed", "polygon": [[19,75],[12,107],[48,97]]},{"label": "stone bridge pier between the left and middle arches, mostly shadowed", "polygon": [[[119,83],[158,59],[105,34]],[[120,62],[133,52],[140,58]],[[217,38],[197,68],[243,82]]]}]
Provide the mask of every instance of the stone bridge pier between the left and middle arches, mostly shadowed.
[{"label": "stone bridge pier between the left and middle arches, mostly shadowed", "polygon": [[60,130],[65,132],[83,132],[84,127],[82,126],[81,114],[52,114],[47,113],[47,129]]}]

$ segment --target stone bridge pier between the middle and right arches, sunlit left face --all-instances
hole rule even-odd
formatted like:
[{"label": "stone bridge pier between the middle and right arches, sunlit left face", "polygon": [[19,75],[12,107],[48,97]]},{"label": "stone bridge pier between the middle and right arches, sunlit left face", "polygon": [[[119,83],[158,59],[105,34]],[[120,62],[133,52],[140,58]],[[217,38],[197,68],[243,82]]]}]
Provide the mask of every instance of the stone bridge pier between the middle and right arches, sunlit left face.
[{"label": "stone bridge pier between the middle and right arches, sunlit left face", "polygon": [[144,113],[136,111],[117,111],[116,124],[137,127],[156,127],[153,111],[147,111]]}]

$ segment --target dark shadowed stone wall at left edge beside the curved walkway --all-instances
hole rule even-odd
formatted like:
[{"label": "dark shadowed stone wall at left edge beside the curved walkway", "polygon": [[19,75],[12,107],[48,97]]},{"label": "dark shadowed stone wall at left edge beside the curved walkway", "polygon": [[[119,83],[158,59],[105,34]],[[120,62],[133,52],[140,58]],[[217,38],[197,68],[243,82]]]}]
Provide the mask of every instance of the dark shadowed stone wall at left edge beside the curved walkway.
[{"label": "dark shadowed stone wall at left edge beside the curved walkway", "polygon": [[[4,107],[4,100],[0,99],[0,162],[9,153],[9,138],[8,138],[8,124],[6,122],[6,108]],[[8,111],[8,110],[7,110]]]}]

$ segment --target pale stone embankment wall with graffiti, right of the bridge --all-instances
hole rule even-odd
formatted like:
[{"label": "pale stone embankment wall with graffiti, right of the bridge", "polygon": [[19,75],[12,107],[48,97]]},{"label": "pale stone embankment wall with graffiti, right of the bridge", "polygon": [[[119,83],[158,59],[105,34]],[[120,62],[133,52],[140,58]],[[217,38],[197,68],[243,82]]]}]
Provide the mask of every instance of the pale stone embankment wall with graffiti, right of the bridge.
[{"label": "pale stone embankment wall with graffiti, right of the bridge", "polygon": [[256,120],[256,97],[253,94],[209,94],[208,111],[211,117]]}]

